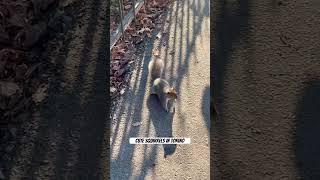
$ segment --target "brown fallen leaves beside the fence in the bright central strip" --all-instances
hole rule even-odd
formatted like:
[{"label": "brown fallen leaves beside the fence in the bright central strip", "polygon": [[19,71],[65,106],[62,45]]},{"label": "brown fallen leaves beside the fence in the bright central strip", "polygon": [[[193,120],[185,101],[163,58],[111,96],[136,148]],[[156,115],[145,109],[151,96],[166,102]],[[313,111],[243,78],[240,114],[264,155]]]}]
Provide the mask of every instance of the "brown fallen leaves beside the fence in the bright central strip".
[{"label": "brown fallen leaves beside the fence in the bright central strip", "polygon": [[137,23],[132,22],[111,51],[110,95],[115,98],[124,93],[128,83],[130,65],[137,57],[137,47],[146,38],[151,38],[157,25],[163,23],[162,13],[170,0],[148,0],[137,14]]}]

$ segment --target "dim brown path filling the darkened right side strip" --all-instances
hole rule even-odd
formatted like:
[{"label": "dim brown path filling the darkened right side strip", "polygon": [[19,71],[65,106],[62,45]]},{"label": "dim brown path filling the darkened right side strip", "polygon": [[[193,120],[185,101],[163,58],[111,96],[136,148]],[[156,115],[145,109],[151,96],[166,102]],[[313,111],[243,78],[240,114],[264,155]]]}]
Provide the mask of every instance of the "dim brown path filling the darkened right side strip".
[{"label": "dim brown path filling the darkened right side strip", "polygon": [[215,1],[214,179],[319,179],[320,3]]}]

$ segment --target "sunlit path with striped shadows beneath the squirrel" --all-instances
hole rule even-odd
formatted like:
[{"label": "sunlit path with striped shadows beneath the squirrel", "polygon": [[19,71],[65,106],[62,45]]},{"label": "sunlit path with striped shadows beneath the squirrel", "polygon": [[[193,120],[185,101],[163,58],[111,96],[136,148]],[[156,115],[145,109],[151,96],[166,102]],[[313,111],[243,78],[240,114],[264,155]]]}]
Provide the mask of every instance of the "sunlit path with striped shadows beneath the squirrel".
[{"label": "sunlit path with striped shadows beneath the squirrel", "polygon": [[[209,0],[178,0],[145,45],[119,104],[111,133],[111,179],[208,179],[210,104]],[[172,117],[149,96],[148,63],[159,51],[165,77],[178,90]],[[133,127],[135,122],[141,122]],[[130,145],[130,137],[189,137],[191,145]]]}]

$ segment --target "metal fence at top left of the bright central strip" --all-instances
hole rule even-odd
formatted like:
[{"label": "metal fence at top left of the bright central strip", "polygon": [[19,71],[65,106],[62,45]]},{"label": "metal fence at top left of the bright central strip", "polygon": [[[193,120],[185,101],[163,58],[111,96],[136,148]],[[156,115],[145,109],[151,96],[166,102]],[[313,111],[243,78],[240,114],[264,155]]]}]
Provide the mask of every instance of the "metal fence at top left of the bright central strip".
[{"label": "metal fence at top left of the bright central strip", "polygon": [[110,36],[110,50],[117,43],[125,29],[130,25],[130,23],[134,20],[136,21],[136,15],[140,8],[146,3],[146,0],[132,0],[133,6],[129,10],[128,14],[124,16],[124,8],[123,8],[123,0],[113,0],[113,2],[117,1],[118,11],[120,14],[120,24],[117,29],[111,33]]}]

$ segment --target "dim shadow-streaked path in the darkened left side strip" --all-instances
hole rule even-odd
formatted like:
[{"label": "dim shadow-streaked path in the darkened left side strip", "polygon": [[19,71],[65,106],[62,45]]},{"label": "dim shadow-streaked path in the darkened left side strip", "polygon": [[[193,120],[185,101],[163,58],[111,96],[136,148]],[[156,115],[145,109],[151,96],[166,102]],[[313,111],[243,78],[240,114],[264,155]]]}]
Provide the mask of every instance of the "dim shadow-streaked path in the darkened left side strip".
[{"label": "dim shadow-streaked path in the darkened left side strip", "polygon": [[107,2],[75,2],[63,41],[49,47],[49,98],[24,128],[10,179],[106,179]]}]

